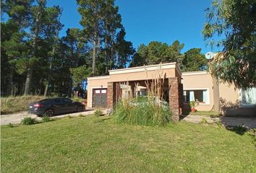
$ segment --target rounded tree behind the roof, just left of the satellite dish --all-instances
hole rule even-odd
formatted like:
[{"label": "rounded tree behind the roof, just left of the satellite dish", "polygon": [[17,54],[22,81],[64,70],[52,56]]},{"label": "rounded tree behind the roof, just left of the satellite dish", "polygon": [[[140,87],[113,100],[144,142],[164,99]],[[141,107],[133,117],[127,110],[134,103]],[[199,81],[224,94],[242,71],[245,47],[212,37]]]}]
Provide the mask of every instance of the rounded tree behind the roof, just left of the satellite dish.
[{"label": "rounded tree behind the roof, just left of the satellite dish", "polygon": [[184,53],[184,71],[200,71],[203,67],[207,66],[207,60],[200,52],[200,48],[192,48]]}]

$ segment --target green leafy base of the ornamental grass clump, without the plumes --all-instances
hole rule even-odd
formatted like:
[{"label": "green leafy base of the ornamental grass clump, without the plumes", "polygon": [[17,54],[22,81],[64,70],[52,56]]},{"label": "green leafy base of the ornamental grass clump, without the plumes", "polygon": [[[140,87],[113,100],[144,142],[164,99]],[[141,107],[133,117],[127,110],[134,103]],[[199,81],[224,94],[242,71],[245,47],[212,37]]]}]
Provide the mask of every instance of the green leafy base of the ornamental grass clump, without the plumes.
[{"label": "green leafy base of the ornamental grass clump, without the plumes", "polygon": [[119,102],[113,112],[118,123],[137,125],[166,125],[171,121],[171,111],[168,107],[157,105],[154,102],[143,101],[131,104],[129,100]]}]

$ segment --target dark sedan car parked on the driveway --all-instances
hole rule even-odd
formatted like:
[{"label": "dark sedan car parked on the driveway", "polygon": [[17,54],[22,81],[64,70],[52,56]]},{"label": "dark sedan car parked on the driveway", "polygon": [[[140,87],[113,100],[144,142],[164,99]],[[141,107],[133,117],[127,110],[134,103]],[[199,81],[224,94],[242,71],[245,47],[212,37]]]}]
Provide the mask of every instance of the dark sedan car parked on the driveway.
[{"label": "dark sedan car parked on the driveway", "polygon": [[42,99],[29,105],[28,112],[35,115],[53,116],[67,112],[82,112],[85,105],[67,98]]}]

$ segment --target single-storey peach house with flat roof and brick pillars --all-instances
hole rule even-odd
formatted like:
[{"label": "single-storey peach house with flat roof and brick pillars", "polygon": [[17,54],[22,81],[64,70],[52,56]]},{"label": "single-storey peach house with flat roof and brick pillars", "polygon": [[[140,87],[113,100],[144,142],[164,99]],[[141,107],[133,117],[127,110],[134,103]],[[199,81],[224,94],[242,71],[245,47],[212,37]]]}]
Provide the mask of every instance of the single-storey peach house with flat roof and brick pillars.
[{"label": "single-storey peach house with flat roof and brick pillars", "polygon": [[147,83],[163,80],[164,99],[179,120],[189,102],[197,110],[221,112],[224,115],[256,116],[256,88],[244,91],[234,85],[218,83],[207,71],[181,73],[176,63],[110,70],[108,76],[88,78],[88,107],[113,109],[120,97],[144,95]]}]

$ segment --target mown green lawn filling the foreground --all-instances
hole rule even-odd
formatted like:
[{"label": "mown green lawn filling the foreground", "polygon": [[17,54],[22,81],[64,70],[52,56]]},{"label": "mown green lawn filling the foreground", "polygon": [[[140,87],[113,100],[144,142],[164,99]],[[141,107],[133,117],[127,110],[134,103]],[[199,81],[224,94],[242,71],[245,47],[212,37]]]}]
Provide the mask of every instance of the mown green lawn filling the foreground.
[{"label": "mown green lawn filling the foreground", "polygon": [[247,134],[100,118],[1,126],[1,172],[256,172],[255,145]]}]

